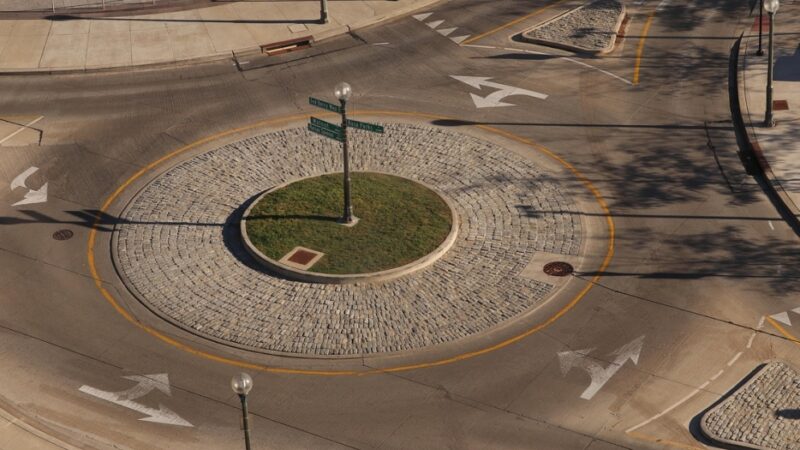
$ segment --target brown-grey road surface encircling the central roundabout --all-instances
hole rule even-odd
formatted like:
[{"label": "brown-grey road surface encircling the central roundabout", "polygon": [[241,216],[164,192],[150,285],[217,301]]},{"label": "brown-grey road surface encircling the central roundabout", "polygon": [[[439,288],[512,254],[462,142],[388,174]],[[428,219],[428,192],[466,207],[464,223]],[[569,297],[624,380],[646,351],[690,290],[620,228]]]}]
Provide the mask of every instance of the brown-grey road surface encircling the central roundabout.
[{"label": "brown-grey road surface encircling the central roundabout", "polygon": [[[729,53],[749,10],[630,4],[625,39],[600,58],[509,39],[539,16],[492,32],[547,5],[445,1],[426,20],[458,27],[449,37],[409,16],[238,67],[0,78],[0,118],[43,116],[0,145],[4,408],[81,448],[243,448],[229,380],[246,371],[253,448],[704,448],[698,414],[759,363],[800,357],[762,319],[800,306],[797,236],[745,173],[730,120]],[[460,35],[471,38],[450,39]],[[548,97],[476,108],[469,94],[492,91],[453,75]],[[161,321],[113,278],[111,224],[97,227],[96,284],[87,242],[124,180],[187,144],[212,137],[199,153],[270,125],[228,130],[316,112],[307,97],[332,100],[341,80],[354,88],[353,110],[453,131],[491,126],[574,166],[611,213],[588,191],[579,199],[595,202],[581,218],[596,227],[588,257],[603,260],[613,239],[610,265],[577,273],[542,308],[479,339],[334,361],[235,349]],[[47,202],[12,206],[23,191],[8,187],[29,167],[38,170],[27,186],[47,183]],[[53,239],[64,229],[73,237]],[[168,374],[170,389],[136,378],[153,374]],[[133,403],[99,391],[127,391],[114,398]],[[161,422],[140,420],[154,411]]]}]

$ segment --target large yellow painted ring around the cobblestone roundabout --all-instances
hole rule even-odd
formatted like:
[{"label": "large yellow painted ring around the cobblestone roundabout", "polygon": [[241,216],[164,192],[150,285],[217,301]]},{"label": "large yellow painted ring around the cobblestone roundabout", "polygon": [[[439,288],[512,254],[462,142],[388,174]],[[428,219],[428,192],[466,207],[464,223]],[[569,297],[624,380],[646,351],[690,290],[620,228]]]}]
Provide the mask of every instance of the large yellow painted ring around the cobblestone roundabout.
[{"label": "large yellow painted ring around the cobblestone roundabout", "polygon": [[[331,114],[332,113],[325,113],[325,114],[319,114],[319,115],[326,116],[326,115],[331,115]],[[453,120],[452,117],[436,116],[436,115],[425,114],[425,113],[399,112],[399,111],[370,111],[370,110],[365,110],[365,111],[354,111],[352,114],[353,115],[359,115],[360,114],[360,115],[407,116],[407,117],[416,117],[416,118],[425,118],[425,119]],[[239,359],[233,359],[233,358],[228,358],[228,357],[224,357],[224,356],[215,355],[213,353],[209,353],[209,352],[194,348],[194,347],[192,347],[192,346],[190,346],[188,344],[184,344],[183,342],[180,342],[180,341],[178,341],[176,339],[173,339],[173,338],[165,335],[164,333],[156,330],[155,328],[152,328],[152,327],[140,322],[137,318],[135,318],[133,315],[131,315],[128,311],[126,311],[119,304],[119,302],[117,302],[117,300],[114,298],[114,296],[111,295],[111,293],[108,291],[108,289],[106,289],[103,286],[103,280],[100,278],[100,275],[99,275],[99,273],[97,271],[97,266],[96,266],[95,257],[94,257],[94,247],[95,247],[95,242],[96,242],[96,239],[97,239],[97,229],[98,229],[98,226],[100,225],[101,218],[106,214],[106,211],[108,210],[108,208],[122,194],[122,192],[124,192],[125,189],[127,189],[134,181],[136,181],[137,179],[141,178],[142,175],[144,175],[145,173],[149,172],[150,170],[152,170],[156,166],[160,165],[161,163],[163,163],[163,162],[165,162],[165,161],[167,161],[167,160],[169,160],[171,158],[174,158],[177,155],[180,155],[181,153],[184,153],[184,152],[186,152],[188,150],[191,150],[193,148],[197,148],[200,145],[206,144],[208,142],[211,142],[211,141],[214,141],[216,139],[220,139],[220,138],[223,138],[223,137],[226,137],[226,136],[231,136],[231,135],[236,134],[236,133],[241,133],[243,131],[252,130],[254,128],[259,128],[259,127],[264,127],[264,126],[269,126],[269,125],[276,125],[276,124],[287,124],[287,123],[290,123],[292,121],[296,121],[296,120],[300,120],[300,119],[307,119],[308,117],[310,117],[310,115],[308,115],[308,114],[297,114],[297,115],[288,116],[288,117],[264,120],[264,121],[261,121],[261,122],[256,122],[254,124],[246,125],[244,127],[234,128],[234,129],[228,130],[228,131],[223,131],[221,133],[217,133],[217,134],[214,134],[212,136],[208,136],[206,138],[200,139],[200,140],[198,140],[196,142],[193,142],[191,144],[183,146],[183,147],[181,147],[181,148],[179,148],[177,150],[173,150],[172,152],[168,153],[167,155],[165,155],[165,156],[157,159],[156,161],[148,164],[147,166],[143,167],[138,172],[133,174],[130,178],[125,180],[125,182],[123,182],[122,185],[120,185],[106,199],[106,201],[103,203],[103,206],[101,206],[100,209],[95,214],[95,221],[94,221],[94,224],[92,224],[91,231],[89,232],[89,240],[88,240],[88,244],[87,244],[87,259],[88,259],[88,262],[89,262],[89,271],[91,273],[92,279],[94,279],[95,286],[100,291],[100,293],[103,295],[103,297],[106,299],[106,301],[109,304],[111,304],[111,306],[123,318],[125,318],[125,320],[127,320],[128,322],[130,322],[133,325],[137,326],[138,328],[144,330],[145,332],[147,332],[151,336],[161,340],[162,342],[165,342],[165,343],[167,343],[169,345],[172,345],[172,346],[174,346],[174,347],[176,347],[176,348],[178,348],[180,350],[183,350],[183,351],[188,352],[190,354],[193,354],[193,355],[196,355],[196,356],[199,356],[199,357],[211,360],[211,361],[215,361],[215,362],[219,362],[219,363],[223,363],[223,364],[228,364],[228,365],[232,365],[232,366],[237,366],[237,367],[241,367],[241,368],[247,368],[247,369],[258,370],[258,371],[263,371],[263,372],[272,372],[272,373],[302,374],[302,375],[323,375],[323,376],[374,375],[374,374],[388,373],[388,372],[401,372],[401,371],[407,371],[407,370],[413,370],[413,369],[422,369],[422,368],[428,368],[428,367],[441,366],[441,365],[445,365],[445,364],[451,364],[451,363],[454,363],[456,361],[462,361],[462,360],[465,360],[465,359],[474,358],[476,356],[483,355],[483,354],[486,354],[486,353],[501,349],[503,347],[507,347],[507,346],[509,346],[509,345],[511,345],[511,344],[513,344],[515,342],[518,342],[521,339],[524,339],[524,338],[526,338],[526,337],[528,337],[528,336],[530,336],[530,335],[532,335],[532,334],[534,334],[534,333],[536,333],[536,332],[548,327],[549,325],[554,323],[556,320],[561,318],[564,314],[569,312],[572,308],[574,308],[575,305],[577,305],[578,302],[580,302],[581,299],[583,299],[586,296],[586,294],[592,289],[592,287],[594,287],[594,285],[597,284],[597,282],[600,280],[600,278],[602,277],[602,275],[605,272],[606,268],[611,263],[611,259],[614,257],[615,228],[614,228],[614,221],[611,218],[611,211],[608,209],[608,205],[606,204],[605,200],[603,199],[603,196],[600,194],[600,191],[598,191],[597,188],[594,187],[594,185],[592,184],[591,181],[589,181],[588,178],[586,178],[580,171],[578,171],[578,169],[576,169],[575,166],[573,166],[572,164],[568,163],[567,161],[565,161],[564,159],[562,159],[560,156],[556,155],[555,153],[553,153],[549,149],[547,149],[544,146],[539,145],[539,144],[531,141],[530,139],[526,139],[526,138],[517,136],[515,134],[512,134],[510,132],[507,132],[507,131],[504,131],[504,130],[500,130],[498,128],[494,128],[494,127],[491,127],[491,126],[488,126],[488,125],[476,125],[480,129],[483,129],[483,130],[486,130],[486,131],[490,131],[490,132],[499,134],[501,136],[504,136],[504,137],[506,137],[508,139],[514,140],[516,142],[532,146],[535,149],[537,149],[537,150],[541,151],[542,153],[546,154],[548,157],[550,157],[553,160],[557,161],[558,163],[560,163],[564,167],[566,167],[592,193],[592,195],[595,197],[595,200],[600,205],[600,208],[603,210],[603,214],[606,217],[606,224],[608,226],[608,249],[607,249],[605,258],[603,259],[603,262],[600,265],[600,268],[597,270],[597,273],[591,279],[591,281],[589,283],[587,283],[586,286],[584,286],[584,288],[581,289],[581,291],[572,300],[570,300],[569,303],[566,304],[566,306],[564,306],[562,309],[560,309],[553,316],[549,317],[547,320],[545,320],[544,322],[534,326],[533,328],[530,328],[530,329],[526,330],[525,332],[523,332],[523,333],[521,333],[521,334],[519,334],[517,336],[511,337],[511,338],[506,339],[506,340],[504,340],[504,341],[502,341],[500,343],[494,344],[494,345],[489,346],[489,347],[482,348],[480,350],[463,353],[463,354],[460,354],[460,355],[453,356],[451,358],[445,358],[445,359],[440,359],[440,360],[435,360],[435,361],[429,361],[429,362],[424,362],[424,363],[420,363],[420,364],[396,366],[396,367],[389,367],[389,368],[383,368],[383,369],[370,369],[370,370],[365,370],[365,371],[356,371],[356,370],[305,370],[305,369],[291,369],[291,368],[286,368],[286,367],[266,366],[266,365],[262,365],[262,364],[250,363],[250,362],[239,360]]]}]

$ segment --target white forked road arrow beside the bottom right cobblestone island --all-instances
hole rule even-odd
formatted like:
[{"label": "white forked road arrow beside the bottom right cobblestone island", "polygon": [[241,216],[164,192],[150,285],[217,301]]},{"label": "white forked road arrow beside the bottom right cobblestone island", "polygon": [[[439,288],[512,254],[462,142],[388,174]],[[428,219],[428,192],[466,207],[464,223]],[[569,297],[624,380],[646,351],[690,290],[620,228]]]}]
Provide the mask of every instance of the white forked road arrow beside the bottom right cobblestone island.
[{"label": "white forked road arrow beside the bottom right cobblestone island", "polygon": [[594,350],[593,348],[559,352],[558,362],[561,366],[561,373],[566,376],[573,367],[585,370],[589,374],[589,377],[591,377],[592,382],[589,387],[583,391],[581,398],[584,400],[591,400],[608,380],[622,368],[625,362],[630,359],[634,365],[639,364],[639,354],[642,352],[643,343],[644,335],[614,350],[611,354],[617,355],[617,357],[614,358],[614,361],[612,361],[608,367],[603,367],[599,362],[588,358],[589,353]]}]

